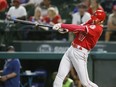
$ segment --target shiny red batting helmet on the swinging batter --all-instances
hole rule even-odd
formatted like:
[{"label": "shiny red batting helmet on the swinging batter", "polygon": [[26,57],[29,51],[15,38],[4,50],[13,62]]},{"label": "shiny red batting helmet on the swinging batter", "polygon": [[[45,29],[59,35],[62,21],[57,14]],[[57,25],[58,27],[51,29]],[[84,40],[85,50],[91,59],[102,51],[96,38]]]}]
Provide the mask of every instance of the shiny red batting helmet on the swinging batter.
[{"label": "shiny red batting helmet on the swinging batter", "polygon": [[106,18],[106,14],[103,10],[97,10],[95,13],[91,16],[91,19],[93,21],[104,21]]}]

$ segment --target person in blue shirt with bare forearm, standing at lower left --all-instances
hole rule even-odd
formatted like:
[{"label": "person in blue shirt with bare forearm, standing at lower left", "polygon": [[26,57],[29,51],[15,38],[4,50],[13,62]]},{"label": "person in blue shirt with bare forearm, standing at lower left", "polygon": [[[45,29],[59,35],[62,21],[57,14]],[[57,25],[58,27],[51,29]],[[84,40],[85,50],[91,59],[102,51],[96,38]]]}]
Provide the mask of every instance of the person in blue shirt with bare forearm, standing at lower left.
[{"label": "person in blue shirt with bare forearm, standing at lower left", "polygon": [[[9,46],[7,52],[15,52],[13,46]],[[0,81],[3,82],[3,87],[20,87],[20,61],[17,58],[7,59]]]}]

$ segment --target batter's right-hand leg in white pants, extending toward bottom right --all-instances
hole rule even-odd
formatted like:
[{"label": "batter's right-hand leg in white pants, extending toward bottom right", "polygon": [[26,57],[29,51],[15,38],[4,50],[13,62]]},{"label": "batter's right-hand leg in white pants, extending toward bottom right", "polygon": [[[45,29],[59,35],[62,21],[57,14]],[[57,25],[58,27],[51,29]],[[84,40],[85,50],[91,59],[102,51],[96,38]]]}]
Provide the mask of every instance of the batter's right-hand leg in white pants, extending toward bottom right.
[{"label": "batter's right-hand leg in white pants, extending toward bottom right", "polygon": [[92,83],[89,80],[88,72],[87,72],[87,61],[84,60],[84,55],[81,52],[75,52],[73,51],[74,56],[71,58],[72,64],[78,73],[79,79],[81,81],[81,84],[84,87],[98,87],[96,84]]}]

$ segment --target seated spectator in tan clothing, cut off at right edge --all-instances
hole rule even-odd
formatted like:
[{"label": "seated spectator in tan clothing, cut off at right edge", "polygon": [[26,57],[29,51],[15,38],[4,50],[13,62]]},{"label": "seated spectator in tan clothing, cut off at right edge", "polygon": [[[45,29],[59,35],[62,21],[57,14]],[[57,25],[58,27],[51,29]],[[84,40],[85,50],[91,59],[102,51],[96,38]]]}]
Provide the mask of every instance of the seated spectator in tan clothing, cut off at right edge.
[{"label": "seated spectator in tan clothing, cut off at right edge", "polygon": [[[113,13],[109,15],[108,18],[108,30],[116,30],[116,5],[113,6]],[[107,31],[105,35],[105,41],[116,40],[115,31]]]}]

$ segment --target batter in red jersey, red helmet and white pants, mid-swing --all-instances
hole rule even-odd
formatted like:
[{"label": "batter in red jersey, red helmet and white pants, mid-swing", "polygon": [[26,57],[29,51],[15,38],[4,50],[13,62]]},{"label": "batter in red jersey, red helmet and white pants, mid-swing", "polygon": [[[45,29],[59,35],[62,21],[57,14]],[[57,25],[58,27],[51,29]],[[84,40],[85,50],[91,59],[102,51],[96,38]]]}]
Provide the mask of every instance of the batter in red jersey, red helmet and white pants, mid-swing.
[{"label": "batter in red jersey, red helmet and white pants, mid-swing", "polygon": [[91,19],[83,25],[74,24],[55,24],[54,30],[67,29],[69,32],[74,32],[76,37],[70,48],[64,54],[58,74],[55,78],[53,87],[62,87],[62,83],[66,75],[74,66],[78,73],[81,84],[84,87],[98,87],[95,83],[89,80],[87,71],[87,57],[90,50],[95,46],[99,37],[102,34],[102,23],[105,20],[106,14],[102,10],[97,10]]}]

